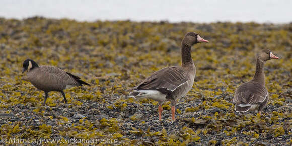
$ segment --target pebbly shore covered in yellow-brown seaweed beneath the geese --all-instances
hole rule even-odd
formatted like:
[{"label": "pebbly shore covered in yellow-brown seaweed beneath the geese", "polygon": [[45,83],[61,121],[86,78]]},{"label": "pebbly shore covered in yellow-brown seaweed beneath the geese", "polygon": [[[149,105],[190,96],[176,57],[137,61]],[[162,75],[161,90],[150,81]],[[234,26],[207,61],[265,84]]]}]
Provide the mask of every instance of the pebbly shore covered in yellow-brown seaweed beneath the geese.
[{"label": "pebbly shore covered in yellow-brown seaweed beneath the geese", "polygon": [[[176,121],[169,102],[159,121],[157,102],[129,98],[126,90],[158,69],[180,65],[180,41],[188,31],[210,43],[192,50],[197,75],[193,89],[176,105]],[[63,139],[51,144],[98,139],[109,145],[290,145],[291,46],[291,23],[0,18],[0,144],[16,138],[32,145],[40,139]],[[270,99],[262,115],[240,115],[234,111],[233,93],[252,78],[253,51],[262,48],[281,58],[266,63]],[[21,74],[26,58],[58,66],[91,86],[66,89],[68,108],[53,92],[42,106],[44,93]]]}]

